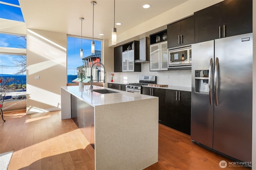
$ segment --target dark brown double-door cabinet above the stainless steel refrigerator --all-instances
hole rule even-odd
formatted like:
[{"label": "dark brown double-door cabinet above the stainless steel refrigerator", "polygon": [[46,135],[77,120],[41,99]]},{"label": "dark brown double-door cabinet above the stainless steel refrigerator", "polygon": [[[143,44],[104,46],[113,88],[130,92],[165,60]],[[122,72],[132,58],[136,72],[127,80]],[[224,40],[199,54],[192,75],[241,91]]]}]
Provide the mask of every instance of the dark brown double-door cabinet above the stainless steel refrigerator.
[{"label": "dark brown double-door cabinet above the stainless steel refrigerator", "polygon": [[252,0],[224,0],[194,13],[195,43],[252,32]]}]

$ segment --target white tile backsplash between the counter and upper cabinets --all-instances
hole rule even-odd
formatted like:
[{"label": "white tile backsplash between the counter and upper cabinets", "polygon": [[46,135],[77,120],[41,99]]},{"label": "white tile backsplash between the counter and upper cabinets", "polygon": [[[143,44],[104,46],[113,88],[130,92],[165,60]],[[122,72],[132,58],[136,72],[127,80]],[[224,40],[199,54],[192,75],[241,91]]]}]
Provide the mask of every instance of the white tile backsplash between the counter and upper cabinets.
[{"label": "white tile backsplash between the counter and upper cabinets", "polygon": [[[111,73],[107,72],[107,81],[111,80]],[[191,87],[191,70],[149,71],[149,63],[142,63],[141,72],[114,72],[114,82],[135,83],[139,82],[139,76],[156,76],[157,84],[169,86]]]}]

